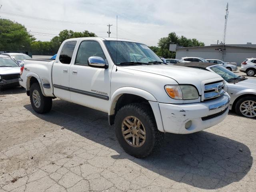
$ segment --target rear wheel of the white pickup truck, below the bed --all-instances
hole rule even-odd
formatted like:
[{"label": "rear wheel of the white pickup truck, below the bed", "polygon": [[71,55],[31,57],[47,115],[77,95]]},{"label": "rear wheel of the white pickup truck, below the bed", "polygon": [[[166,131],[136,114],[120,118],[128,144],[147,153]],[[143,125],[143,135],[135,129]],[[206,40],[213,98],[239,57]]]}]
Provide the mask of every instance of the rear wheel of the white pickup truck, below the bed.
[{"label": "rear wheel of the white pickup truck, below the bed", "polygon": [[34,111],[41,114],[49,112],[52,108],[52,98],[42,94],[38,83],[33,83],[30,88],[30,102]]}]

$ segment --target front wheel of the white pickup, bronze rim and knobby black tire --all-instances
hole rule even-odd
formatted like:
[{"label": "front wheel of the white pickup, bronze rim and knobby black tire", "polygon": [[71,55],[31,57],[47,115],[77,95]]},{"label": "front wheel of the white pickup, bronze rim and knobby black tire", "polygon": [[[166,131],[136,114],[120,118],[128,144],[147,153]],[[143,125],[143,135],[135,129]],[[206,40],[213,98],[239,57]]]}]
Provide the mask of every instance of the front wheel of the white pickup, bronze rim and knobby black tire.
[{"label": "front wheel of the white pickup, bronze rim and knobby black tire", "polygon": [[154,114],[146,104],[128,104],[115,117],[118,142],[125,152],[144,158],[158,148],[164,134],[156,126]]}]

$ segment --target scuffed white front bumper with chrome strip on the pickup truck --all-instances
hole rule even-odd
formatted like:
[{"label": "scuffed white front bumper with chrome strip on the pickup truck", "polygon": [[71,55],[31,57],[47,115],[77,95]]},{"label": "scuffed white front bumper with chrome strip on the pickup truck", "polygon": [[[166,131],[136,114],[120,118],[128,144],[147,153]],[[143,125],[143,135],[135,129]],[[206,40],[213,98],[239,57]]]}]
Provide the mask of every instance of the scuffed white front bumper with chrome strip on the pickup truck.
[{"label": "scuffed white front bumper with chrome strip on the pickup truck", "polygon": [[[159,103],[164,132],[189,134],[204,130],[222,122],[228,115],[230,96],[225,93],[220,98],[191,104]],[[191,120],[191,126],[185,124]]]}]

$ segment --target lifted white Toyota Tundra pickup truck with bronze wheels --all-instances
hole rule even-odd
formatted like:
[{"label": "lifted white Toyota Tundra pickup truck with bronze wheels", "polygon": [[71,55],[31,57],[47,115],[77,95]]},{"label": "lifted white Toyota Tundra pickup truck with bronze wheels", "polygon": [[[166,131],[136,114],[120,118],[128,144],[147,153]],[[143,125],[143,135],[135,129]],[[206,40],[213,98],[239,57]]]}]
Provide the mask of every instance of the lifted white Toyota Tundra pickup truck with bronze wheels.
[{"label": "lifted white Toyota Tundra pickup truck with bronze wheels", "polygon": [[33,109],[49,112],[60,98],[108,113],[122,148],[148,156],[164,132],[190,134],[228,114],[224,80],[200,69],[170,66],[139,42],[65,40],[56,60],[26,60],[20,71]]}]

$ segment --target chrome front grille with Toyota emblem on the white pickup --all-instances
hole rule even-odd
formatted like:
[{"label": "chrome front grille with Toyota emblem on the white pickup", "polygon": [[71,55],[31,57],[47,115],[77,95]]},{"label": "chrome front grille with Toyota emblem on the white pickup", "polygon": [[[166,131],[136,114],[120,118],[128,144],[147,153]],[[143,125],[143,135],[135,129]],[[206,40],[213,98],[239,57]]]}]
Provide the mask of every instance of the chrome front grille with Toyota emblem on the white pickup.
[{"label": "chrome front grille with Toyota emblem on the white pickup", "polygon": [[225,84],[222,80],[205,84],[204,101],[216,99],[219,96],[222,96],[225,92],[224,85]]}]

